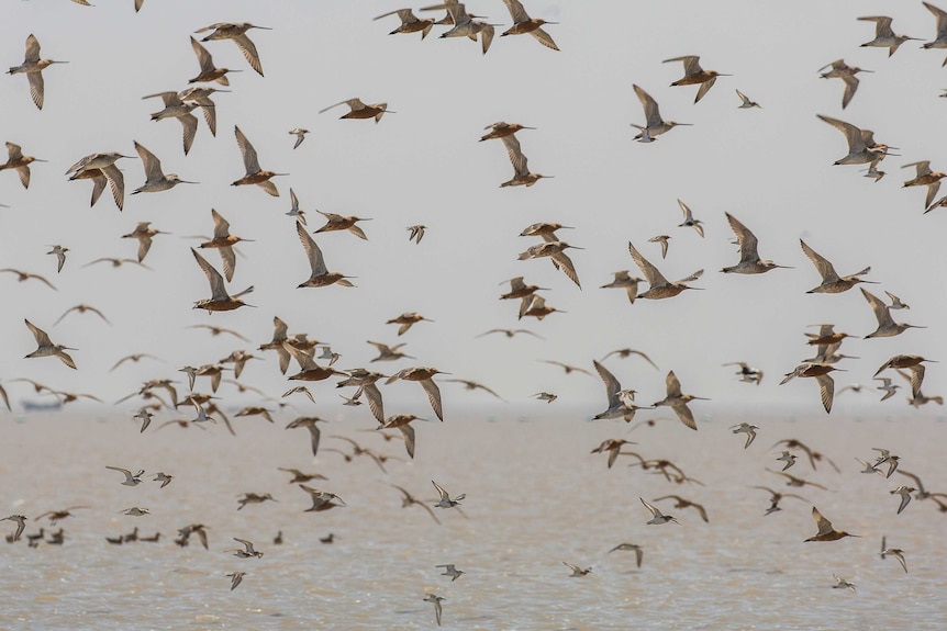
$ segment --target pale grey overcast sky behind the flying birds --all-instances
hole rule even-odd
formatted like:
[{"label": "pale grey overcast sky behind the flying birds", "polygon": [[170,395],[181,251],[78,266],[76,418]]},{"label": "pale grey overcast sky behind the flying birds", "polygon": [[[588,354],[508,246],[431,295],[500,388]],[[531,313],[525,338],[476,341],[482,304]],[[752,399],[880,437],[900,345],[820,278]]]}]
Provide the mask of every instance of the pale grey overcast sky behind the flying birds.
[{"label": "pale grey overcast sky behind the flying birds", "polygon": [[[834,323],[836,330],[864,336],[876,322],[857,289],[805,294],[820,278],[800,238],[840,274],[871,266],[866,278],[880,284],[865,286],[882,297],[891,291],[912,306],[894,312],[895,319],[931,327],[849,340],[843,352],[860,359],[839,364],[848,372],[837,373],[837,387],[873,386],[874,370],[896,353],[947,361],[947,340],[938,329],[947,312],[942,290],[947,209],[923,215],[924,190],[902,190],[914,170],[900,168],[927,159],[934,170],[947,170],[942,137],[947,100],[938,98],[947,87],[942,67],[947,52],[923,50],[921,42],[907,42],[890,58],[885,49],[860,48],[873,37],[873,24],[856,20],[891,14],[895,32],[931,41],[935,21],[921,2],[528,2],[534,18],[559,22],[546,26],[561,48],[555,52],[527,35],[500,37],[511,22],[503,3],[471,1],[470,12],[502,24],[486,56],[468,40],[439,40],[444,26],[421,41],[420,34],[389,36],[398,26],[394,15],[371,20],[400,7],[146,0],[136,14],[132,0],[101,0],[94,8],[66,0],[4,3],[0,55],[7,66],[22,63],[31,33],[42,57],[69,61],[44,70],[42,111],[23,75],[4,76],[0,88],[2,139],[49,160],[33,166],[29,190],[15,173],[0,173],[0,203],[10,206],[0,209],[0,268],[43,274],[58,288],[18,284],[13,274],[0,274],[0,383],[11,398],[31,397],[27,385],[9,383],[25,376],[114,401],[147,379],[185,379],[175,372],[185,364],[255,349],[269,340],[279,316],[290,333],[331,342],[343,356],[337,368],[367,365],[375,349],[366,340],[404,341],[404,352],[417,360],[372,368],[433,365],[480,381],[530,413],[548,409],[530,398],[539,391],[560,396],[552,405],[589,416],[604,408],[598,379],[567,378],[538,360],[591,370],[593,358],[632,347],[648,353],[660,371],[635,358],[606,363],[644,403],[664,397],[665,374],[675,370],[684,392],[714,399],[694,405],[698,417],[727,403],[800,405],[803,413],[821,415],[816,384],[777,385],[782,373],[813,354],[803,333],[814,329],[806,325]],[[186,157],[180,125],[151,122],[160,101],[142,97],[187,87],[198,74],[188,36],[222,21],[272,29],[248,33],[266,76],[254,72],[232,42],[205,44],[218,66],[241,72],[231,75],[232,92],[215,97],[216,137],[201,121]],[[661,63],[681,55],[700,55],[705,69],[733,76],[721,77],[694,104],[697,87],[669,87],[683,76],[681,64]],[[861,84],[844,111],[842,81],[820,79],[817,72],[839,58],[873,70],[859,75]],[[651,144],[635,143],[630,124],[643,123],[644,114],[634,83],[658,101],[666,120],[693,126]],[[736,89],[762,109],[737,109]],[[379,124],[341,121],[344,108],[317,114],[353,97],[387,102],[394,113]],[[861,177],[861,167],[833,166],[847,153],[845,139],[816,114],[870,128],[879,142],[898,147],[898,156],[880,167],[888,176],[874,183]],[[501,120],[536,127],[519,134],[522,150],[531,170],[554,178],[528,189],[499,188],[513,174],[510,160],[500,142],[478,138],[484,125]],[[289,173],[274,179],[279,198],[230,185],[244,174],[234,125],[256,147],[264,169]],[[311,131],[296,150],[287,133],[293,127]],[[127,193],[144,182],[141,161],[121,160],[124,212],[108,192],[90,209],[89,182],[70,182],[64,171],[96,151],[134,155],[133,140],[156,154],[165,172],[200,184],[132,196]],[[322,225],[315,209],[372,219],[361,224],[367,241],[349,233],[315,236],[330,270],[356,277],[355,289],[297,289],[310,271],[293,219],[283,214],[290,187],[308,213],[310,232]],[[705,238],[678,227],[678,199],[703,222]],[[256,308],[214,315],[191,308],[209,296],[209,288],[188,251],[199,241],[187,237],[212,232],[211,209],[230,221],[233,234],[254,239],[239,247],[243,257],[229,286],[236,292],[255,285],[246,300]],[[794,269],[722,274],[721,268],[738,259],[724,212],[757,235],[764,258]],[[141,221],[172,233],[156,238],[145,261],[151,271],[81,267],[99,257],[134,257],[136,244],[119,237]],[[519,233],[541,221],[575,227],[560,237],[584,248],[570,255],[581,290],[547,261],[516,260],[536,243]],[[414,224],[427,226],[420,245],[408,240],[405,227]],[[666,260],[659,246],[648,243],[659,234],[671,236]],[[628,241],[671,280],[703,269],[703,278],[691,283],[703,291],[630,305],[622,291],[599,289],[617,270],[640,275]],[[52,244],[70,248],[59,274],[55,258],[45,253]],[[216,252],[207,258],[220,269]],[[517,322],[515,301],[498,300],[509,288],[500,283],[517,275],[550,288],[544,293],[547,304],[567,313]],[[114,326],[91,314],[70,314],[53,326],[79,303],[100,308]],[[402,312],[434,322],[398,337],[397,327],[385,323]],[[24,318],[54,341],[78,348],[73,357],[79,370],[55,359],[23,359],[35,349]],[[234,328],[253,345],[187,328],[194,324]],[[545,339],[476,337],[495,327],[528,328]],[[132,352],[160,356],[167,364],[142,362],[108,372]],[[243,381],[278,396],[288,382],[275,356],[263,357],[265,362],[248,364]],[[733,369],[721,367],[737,360],[766,372],[761,386],[738,383]],[[937,364],[928,370],[926,394],[942,394],[940,371]],[[209,390],[204,381],[198,387]],[[331,382],[312,390],[316,414],[339,410]],[[443,383],[442,392],[447,417],[473,404],[495,405],[498,415],[511,409],[458,384]],[[389,414],[430,415],[414,384],[394,384],[383,393],[386,403],[394,402],[387,405]],[[903,396],[884,404],[874,402],[874,393],[861,397],[877,414],[913,413]],[[836,405],[843,409],[846,403]]]}]

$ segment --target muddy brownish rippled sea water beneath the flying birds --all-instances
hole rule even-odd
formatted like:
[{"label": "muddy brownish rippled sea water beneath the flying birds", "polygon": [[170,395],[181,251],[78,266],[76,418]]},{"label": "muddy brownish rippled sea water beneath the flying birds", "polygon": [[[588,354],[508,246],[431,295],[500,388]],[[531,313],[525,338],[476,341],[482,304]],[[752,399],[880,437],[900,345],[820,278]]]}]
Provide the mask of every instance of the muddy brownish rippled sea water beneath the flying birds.
[{"label": "muddy brownish rippled sea water beneath the flying birds", "polygon": [[[506,415],[448,409],[443,422],[414,421],[412,460],[397,432],[386,437],[361,410],[320,424],[313,457],[305,429],[285,429],[288,410],[274,424],[231,416],[232,436],[222,424],[157,419],[140,432],[133,412],[77,405],[0,418],[0,511],[27,517],[20,541],[0,540],[0,630],[435,629],[428,594],[444,598],[444,629],[947,629],[947,512],[914,499],[899,515],[891,491],[912,480],[864,474],[856,460],[889,449],[928,492],[947,491],[938,464],[947,424],[936,415],[735,413],[701,418],[692,431],[670,417],[591,421],[536,402]],[[740,421],[759,427],[748,448],[732,430]],[[337,437],[383,461],[353,455]],[[633,441],[623,451],[670,461],[690,481],[634,455],[610,469],[606,454],[590,453],[606,439]],[[813,469],[791,450],[799,459],[787,473],[824,489],[788,486],[767,471],[783,465],[781,440],[822,454]],[[124,486],[107,465],[144,470],[143,482]],[[309,485],[345,505],[308,512],[309,495],[280,467],[325,476]],[[160,487],[157,472],[172,482]],[[432,481],[464,495],[460,505],[434,507]],[[421,506],[403,508],[393,485],[441,523]],[[755,486],[801,498],[766,515],[769,493]],[[246,493],[274,500],[241,508]],[[655,502],[668,495],[703,505],[709,522],[673,499]],[[642,498],[680,525],[647,525]],[[814,506],[858,537],[804,542],[816,531]],[[148,514],[125,515],[131,507]],[[67,508],[55,526],[38,518]],[[208,550],[196,537],[175,543],[193,523],[204,525]],[[29,547],[25,536],[41,528],[45,538]],[[59,528],[63,543],[48,543]],[[107,541],[135,529],[160,536]],[[14,530],[0,521],[0,534]],[[907,573],[882,560],[882,537],[903,550]],[[234,538],[264,555],[235,556],[243,547]],[[633,552],[611,552],[620,543],[643,548],[640,567]],[[566,563],[591,572],[573,577]],[[444,564],[464,574],[452,581],[436,567]],[[234,572],[245,574],[231,589]],[[835,588],[833,575],[854,590]]]}]

